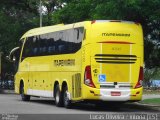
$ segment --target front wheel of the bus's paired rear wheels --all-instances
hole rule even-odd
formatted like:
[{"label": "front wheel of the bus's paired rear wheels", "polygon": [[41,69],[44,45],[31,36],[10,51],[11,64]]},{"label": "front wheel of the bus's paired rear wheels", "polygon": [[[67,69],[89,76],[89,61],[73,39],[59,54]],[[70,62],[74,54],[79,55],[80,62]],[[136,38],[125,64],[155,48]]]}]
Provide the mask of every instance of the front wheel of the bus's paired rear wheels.
[{"label": "front wheel of the bus's paired rear wheels", "polygon": [[55,104],[57,107],[62,107],[63,106],[63,102],[62,102],[62,94],[60,92],[60,89],[59,89],[59,85],[56,85],[56,88],[55,88]]}]

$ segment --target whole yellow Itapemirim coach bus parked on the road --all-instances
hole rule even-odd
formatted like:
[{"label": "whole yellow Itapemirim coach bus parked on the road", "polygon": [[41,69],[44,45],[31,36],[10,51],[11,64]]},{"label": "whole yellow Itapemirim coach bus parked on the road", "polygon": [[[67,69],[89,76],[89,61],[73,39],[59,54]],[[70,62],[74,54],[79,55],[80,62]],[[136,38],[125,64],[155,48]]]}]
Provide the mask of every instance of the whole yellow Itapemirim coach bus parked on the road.
[{"label": "whole yellow Itapemirim coach bus parked on the road", "polygon": [[143,32],[139,23],[84,21],[29,30],[21,40],[15,92],[55,99],[127,102],[142,99]]}]

